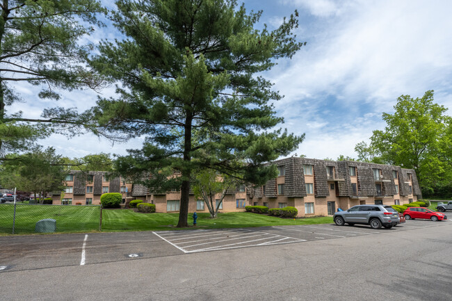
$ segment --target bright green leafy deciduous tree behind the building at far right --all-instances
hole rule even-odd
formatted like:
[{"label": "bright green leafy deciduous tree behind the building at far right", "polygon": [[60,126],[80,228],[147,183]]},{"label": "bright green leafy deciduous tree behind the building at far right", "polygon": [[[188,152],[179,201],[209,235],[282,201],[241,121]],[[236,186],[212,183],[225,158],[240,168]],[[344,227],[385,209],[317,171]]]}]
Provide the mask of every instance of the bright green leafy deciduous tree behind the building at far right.
[{"label": "bright green leafy deciduous tree behind the building at far right", "polygon": [[425,192],[444,181],[450,183],[451,117],[446,111],[434,103],[433,90],[421,98],[398,97],[394,114],[382,114],[385,130],[373,131],[369,145],[372,161],[416,170]]}]

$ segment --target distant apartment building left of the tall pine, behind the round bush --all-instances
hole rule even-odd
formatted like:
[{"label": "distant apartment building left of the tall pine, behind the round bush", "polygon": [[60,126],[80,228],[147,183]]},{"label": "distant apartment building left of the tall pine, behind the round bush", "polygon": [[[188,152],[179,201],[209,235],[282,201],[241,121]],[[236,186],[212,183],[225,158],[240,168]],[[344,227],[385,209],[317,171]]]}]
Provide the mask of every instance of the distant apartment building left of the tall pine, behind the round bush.
[{"label": "distant apartment building left of the tall pine, behind the round bush", "polygon": [[111,178],[108,172],[70,171],[65,178],[63,193],[52,193],[53,204],[100,204],[100,197],[104,193],[121,193],[122,202],[131,198],[132,184],[123,177]]}]

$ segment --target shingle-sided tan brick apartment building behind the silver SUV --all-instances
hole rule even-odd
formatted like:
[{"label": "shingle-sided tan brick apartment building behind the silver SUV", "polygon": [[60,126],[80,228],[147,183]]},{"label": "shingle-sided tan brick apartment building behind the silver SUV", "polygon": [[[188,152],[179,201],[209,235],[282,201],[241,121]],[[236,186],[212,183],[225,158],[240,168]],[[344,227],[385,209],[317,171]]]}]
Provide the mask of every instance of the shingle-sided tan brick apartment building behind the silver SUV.
[{"label": "shingle-sided tan brick apartment building behind the silver SUV", "polygon": [[333,215],[359,204],[407,204],[420,199],[416,172],[394,165],[357,161],[284,158],[278,177],[247,190],[250,203],[283,208],[294,206],[298,216]]}]

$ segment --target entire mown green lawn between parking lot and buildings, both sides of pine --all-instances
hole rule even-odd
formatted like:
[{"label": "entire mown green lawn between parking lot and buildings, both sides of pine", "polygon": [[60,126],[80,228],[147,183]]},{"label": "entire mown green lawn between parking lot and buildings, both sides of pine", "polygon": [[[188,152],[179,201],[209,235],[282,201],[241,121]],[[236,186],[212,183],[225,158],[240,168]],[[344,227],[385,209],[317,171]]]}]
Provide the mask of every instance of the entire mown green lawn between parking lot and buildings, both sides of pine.
[{"label": "entire mown green lawn between parking lot and buildings, both sides of pine", "polygon": [[[13,229],[11,204],[0,204],[0,234],[11,234]],[[35,223],[44,218],[56,220],[58,232],[86,232],[99,229],[99,206],[58,206],[17,204],[15,234],[35,233]],[[192,213],[189,225],[193,225]],[[102,231],[161,231],[177,229],[178,213],[137,213],[133,209],[104,209]],[[219,213],[211,219],[209,213],[198,213],[200,229],[265,227],[276,225],[308,225],[330,223],[332,217],[277,218],[249,212]]]}]

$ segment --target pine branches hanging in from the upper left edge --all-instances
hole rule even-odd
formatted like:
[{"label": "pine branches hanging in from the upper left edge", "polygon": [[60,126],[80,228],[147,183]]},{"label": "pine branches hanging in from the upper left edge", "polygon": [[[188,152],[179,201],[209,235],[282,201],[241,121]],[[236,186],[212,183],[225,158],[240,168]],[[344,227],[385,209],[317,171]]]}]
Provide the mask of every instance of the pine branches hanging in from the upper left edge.
[{"label": "pine branches hanging in from the upper left edge", "polygon": [[25,101],[15,89],[24,82],[41,86],[38,96],[51,99],[60,98],[58,89],[97,88],[102,83],[86,67],[92,48],[82,45],[80,38],[94,31],[92,25],[99,25],[96,15],[104,9],[94,0],[0,0],[0,10],[0,152],[4,156],[27,149],[52,131],[74,133],[83,122],[89,124],[74,109],[51,108],[42,119],[30,119],[6,108]]}]

